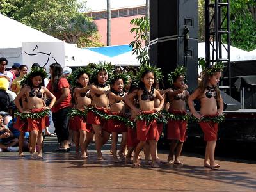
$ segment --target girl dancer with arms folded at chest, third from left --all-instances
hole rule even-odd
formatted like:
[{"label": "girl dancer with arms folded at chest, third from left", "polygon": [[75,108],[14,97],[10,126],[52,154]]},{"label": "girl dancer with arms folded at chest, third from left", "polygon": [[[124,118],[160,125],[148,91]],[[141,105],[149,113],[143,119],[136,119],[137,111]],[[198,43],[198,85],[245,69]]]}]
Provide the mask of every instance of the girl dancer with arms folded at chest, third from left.
[{"label": "girl dancer with arms folded at chest, third from left", "polygon": [[92,98],[92,107],[88,108],[87,123],[92,124],[95,133],[95,145],[97,150],[97,158],[104,161],[101,147],[109,140],[109,131],[104,126],[104,120],[100,114],[106,115],[108,113],[108,94],[110,90],[107,84],[108,76],[113,72],[113,65],[110,63],[100,63],[95,65],[92,70],[92,81],[90,85],[90,92]]}]

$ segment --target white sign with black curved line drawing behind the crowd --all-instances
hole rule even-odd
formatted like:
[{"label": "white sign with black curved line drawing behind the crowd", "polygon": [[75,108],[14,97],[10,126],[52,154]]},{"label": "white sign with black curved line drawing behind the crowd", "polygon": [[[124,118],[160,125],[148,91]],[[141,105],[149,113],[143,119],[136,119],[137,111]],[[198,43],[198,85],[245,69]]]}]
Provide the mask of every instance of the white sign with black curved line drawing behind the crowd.
[{"label": "white sign with black curved line drawing behind the crowd", "polygon": [[64,42],[23,42],[22,60],[29,70],[33,63],[45,67],[47,72],[52,63],[65,67]]}]

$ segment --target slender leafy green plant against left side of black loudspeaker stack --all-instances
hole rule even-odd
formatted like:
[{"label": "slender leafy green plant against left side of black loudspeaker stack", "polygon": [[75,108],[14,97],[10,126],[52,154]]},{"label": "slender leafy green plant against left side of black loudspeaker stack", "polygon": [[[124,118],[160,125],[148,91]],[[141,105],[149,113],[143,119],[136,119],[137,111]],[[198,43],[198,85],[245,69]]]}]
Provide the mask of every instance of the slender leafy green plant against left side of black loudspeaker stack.
[{"label": "slender leafy green plant against left side of black loudspeaker stack", "polygon": [[132,54],[137,55],[137,60],[140,61],[141,65],[149,63],[149,19],[145,17],[132,19],[131,24],[135,27],[131,29],[131,33],[135,32],[135,40],[129,45],[132,47]]}]

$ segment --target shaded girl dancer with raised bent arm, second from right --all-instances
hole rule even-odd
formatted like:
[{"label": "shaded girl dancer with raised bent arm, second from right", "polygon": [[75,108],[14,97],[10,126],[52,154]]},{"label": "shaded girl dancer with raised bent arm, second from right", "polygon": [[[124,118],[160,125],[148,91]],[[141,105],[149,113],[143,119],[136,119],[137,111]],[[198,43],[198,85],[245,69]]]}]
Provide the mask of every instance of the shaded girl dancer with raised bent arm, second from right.
[{"label": "shaded girl dancer with raised bent arm, second from right", "polygon": [[[168,74],[171,90],[167,92],[170,106],[168,109],[168,140],[172,140],[170,144],[170,152],[167,161],[174,164],[183,164],[179,157],[182,152],[183,143],[186,140],[186,129],[188,115],[186,115],[186,100],[189,92],[186,90],[188,86],[184,84],[186,69],[177,67],[175,71]],[[176,152],[175,152],[176,150]],[[173,155],[175,159],[173,161]]]}]

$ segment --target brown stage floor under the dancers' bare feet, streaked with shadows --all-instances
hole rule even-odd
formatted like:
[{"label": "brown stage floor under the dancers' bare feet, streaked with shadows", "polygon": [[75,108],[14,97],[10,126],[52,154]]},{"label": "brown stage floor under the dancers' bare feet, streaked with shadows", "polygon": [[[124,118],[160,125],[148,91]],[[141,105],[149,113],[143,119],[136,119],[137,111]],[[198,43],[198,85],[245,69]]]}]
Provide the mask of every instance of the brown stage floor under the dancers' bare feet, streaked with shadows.
[{"label": "brown stage floor under the dancers' bare feet, streaked with shadows", "polygon": [[[94,144],[93,144],[94,145]],[[53,147],[52,147],[53,146]],[[47,137],[43,160],[19,159],[17,153],[0,153],[0,191],[256,191],[256,165],[249,161],[218,160],[219,170],[202,166],[202,157],[182,156],[183,166],[133,168],[107,161],[76,159],[74,152],[52,152],[56,137]],[[166,161],[167,152],[159,152]],[[218,159],[218,158],[216,158]]]}]

